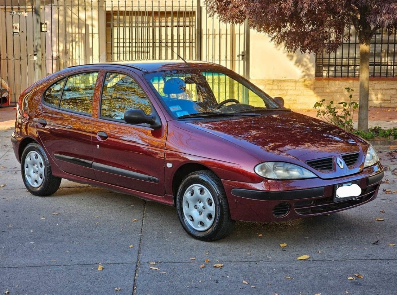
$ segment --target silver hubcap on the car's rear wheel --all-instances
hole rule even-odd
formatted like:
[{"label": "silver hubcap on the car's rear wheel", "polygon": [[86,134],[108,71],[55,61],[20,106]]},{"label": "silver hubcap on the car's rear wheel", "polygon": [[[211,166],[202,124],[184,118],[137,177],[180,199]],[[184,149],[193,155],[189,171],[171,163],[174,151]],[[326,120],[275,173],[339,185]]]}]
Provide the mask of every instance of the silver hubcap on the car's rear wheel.
[{"label": "silver hubcap on the car's rear wheel", "polygon": [[29,151],[25,158],[25,179],[33,186],[38,188],[44,180],[44,162],[37,151]]}]

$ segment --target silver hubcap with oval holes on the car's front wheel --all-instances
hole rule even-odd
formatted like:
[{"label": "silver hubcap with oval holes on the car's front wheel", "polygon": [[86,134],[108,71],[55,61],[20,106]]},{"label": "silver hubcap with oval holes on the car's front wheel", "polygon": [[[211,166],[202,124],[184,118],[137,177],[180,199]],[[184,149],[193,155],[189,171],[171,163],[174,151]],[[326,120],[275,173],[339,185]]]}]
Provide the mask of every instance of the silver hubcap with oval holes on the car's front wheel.
[{"label": "silver hubcap with oval holes on the car's front wheel", "polygon": [[182,209],[186,222],[197,231],[208,230],[214,223],[216,212],[214,198],[201,184],[192,184],[185,190]]}]

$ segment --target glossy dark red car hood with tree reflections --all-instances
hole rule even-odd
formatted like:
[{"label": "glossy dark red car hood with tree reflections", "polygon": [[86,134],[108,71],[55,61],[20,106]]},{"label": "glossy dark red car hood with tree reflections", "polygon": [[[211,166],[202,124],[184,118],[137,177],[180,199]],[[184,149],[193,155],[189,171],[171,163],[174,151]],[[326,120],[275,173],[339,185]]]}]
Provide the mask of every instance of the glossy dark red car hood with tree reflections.
[{"label": "glossy dark red car hood with tree reflections", "polygon": [[244,140],[266,151],[281,151],[303,162],[353,152],[360,152],[362,159],[361,144],[364,142],[357,136],[299,113],[274,111],[260,117],[201,120],[192,122],[192,125],[236,144]]}]

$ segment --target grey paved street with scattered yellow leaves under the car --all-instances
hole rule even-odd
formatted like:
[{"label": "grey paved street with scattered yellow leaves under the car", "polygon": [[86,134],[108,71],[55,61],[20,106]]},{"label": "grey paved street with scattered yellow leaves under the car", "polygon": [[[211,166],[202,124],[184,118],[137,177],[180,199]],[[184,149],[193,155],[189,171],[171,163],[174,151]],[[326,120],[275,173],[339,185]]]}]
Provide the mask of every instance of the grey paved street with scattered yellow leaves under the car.
[{"label": "grey paved street with scattered yellow leaves under the car", "polygon": [[397,295],[397,153],[380,153],[386,174],[371,203],[237,222],[202,242],[170,206],[67,180],[50,197],[31,195],[11,132],[0,131],[0,294]]}]

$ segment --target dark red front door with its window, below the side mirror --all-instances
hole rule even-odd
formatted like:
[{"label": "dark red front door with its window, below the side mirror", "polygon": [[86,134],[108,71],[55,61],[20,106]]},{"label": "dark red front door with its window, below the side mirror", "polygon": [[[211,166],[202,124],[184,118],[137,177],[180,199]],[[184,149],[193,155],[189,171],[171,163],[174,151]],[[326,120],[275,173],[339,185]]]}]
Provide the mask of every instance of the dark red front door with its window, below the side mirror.
[{"label": "dark red front door with its window, below the side mirror", "polygon": [[[154,195],[164,195],[166,125],[128,124],[124,112],[156,112],[148,89],[130,71],[109,68],[104,74],[98,115],[93,125],[93,153],[97,180]],[[157,112],[160,113],[160,112]]]}]

